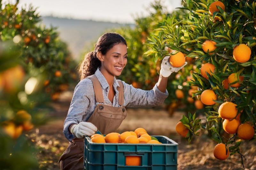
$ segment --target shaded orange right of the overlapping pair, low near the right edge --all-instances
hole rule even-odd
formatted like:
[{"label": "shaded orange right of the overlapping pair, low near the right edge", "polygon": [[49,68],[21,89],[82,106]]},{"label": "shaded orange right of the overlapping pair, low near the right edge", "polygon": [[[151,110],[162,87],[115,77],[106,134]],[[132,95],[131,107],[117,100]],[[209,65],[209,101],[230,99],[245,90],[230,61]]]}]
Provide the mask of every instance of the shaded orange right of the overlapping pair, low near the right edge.
[{"label": "shaded orange right of the overlapping pair, low near the right edge", "polygon": [[237,135],[240,139],[250,140],[254,136],[254,128],[249,123],[241,124],[238,127]]}]

